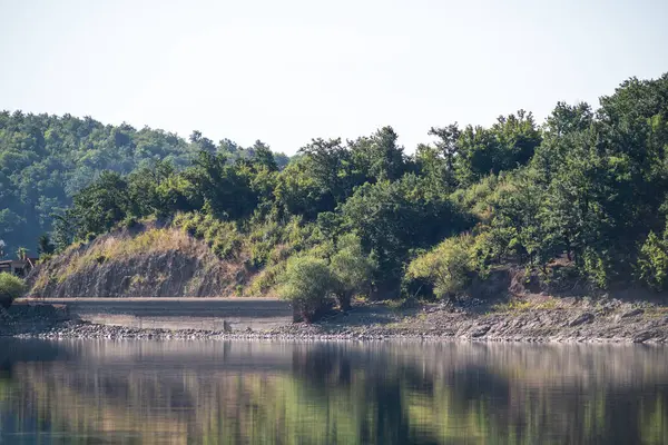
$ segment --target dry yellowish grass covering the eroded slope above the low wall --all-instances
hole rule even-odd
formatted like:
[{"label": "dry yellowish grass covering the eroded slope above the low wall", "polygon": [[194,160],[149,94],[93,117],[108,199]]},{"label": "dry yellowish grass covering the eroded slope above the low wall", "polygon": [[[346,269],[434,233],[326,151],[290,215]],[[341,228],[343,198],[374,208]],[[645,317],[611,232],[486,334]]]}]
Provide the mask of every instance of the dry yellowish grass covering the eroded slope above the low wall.
[{"label": "dry yellowish grass covering the eroded slope above the low wall", "polygon": [[[160,265],[165,263],[157,260],[160,256],[174,257],[178,261],[196,266],[194,275],[183,284],[183,290],[188,296],[224,296],[233,293],[248,295],[242,289],[248,279],[256,275],[246,268],[244,256],[222,259],[206,240],[193,237],[180,227],[160,228],[144,225],[141,230],[119,229],[88,244],[70,246],[61,255],[40,265],[32,278],[30,293],[49,295],[58,291],[59,286],[69,283],[73,277],[106,274],[106,266],[111,267],[109,270],[116,270],[116,266],[122,268],[127,265],[131,271],[128,289],[135,294],[141,294],[147,286],[155,289],[156,285],[168,277],[176,279],[175,283],[180,283],[180,270],[160,269]],[[174,278],[174,275],[177,278]],[[269,277],[271,274],[266,276]],[[273,284],[273,279],[269,281]],[[266,294],[265,287],[267,286],[263,286],[265,291],[250,295]]]}]

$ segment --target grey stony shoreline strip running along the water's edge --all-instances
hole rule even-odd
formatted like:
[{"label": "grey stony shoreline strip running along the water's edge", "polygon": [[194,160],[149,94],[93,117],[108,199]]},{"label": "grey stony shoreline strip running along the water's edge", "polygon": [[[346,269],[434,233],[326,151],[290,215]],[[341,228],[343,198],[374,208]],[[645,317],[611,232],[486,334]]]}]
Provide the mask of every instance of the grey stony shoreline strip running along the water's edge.
[{"label": "grey stony shoreline strip running along the water's edge", "polygon": [[[17,305],[3,315],[0,335],[100,339],[310,339],[310,340],[498,340],[668,343],[668,307],[619,298],[553,298],[531,295],[507,303],[360,303],[347,314],[316,324],[266,330],[143,329],[86,323],[65,307]],[[410,306],[410,307],[406,307]]]}]

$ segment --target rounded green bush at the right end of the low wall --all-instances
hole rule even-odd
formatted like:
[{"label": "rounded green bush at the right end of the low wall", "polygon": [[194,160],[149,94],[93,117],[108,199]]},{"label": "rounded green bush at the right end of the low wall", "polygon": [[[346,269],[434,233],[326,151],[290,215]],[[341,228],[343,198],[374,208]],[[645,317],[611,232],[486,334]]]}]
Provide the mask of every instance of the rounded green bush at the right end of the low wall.
[{"label": "rounded green bush at the right end of the low wall", "polygon": [[295,256],[278,277],[278,295],[292,301],[305,322],[315,322],[330,306],[333,277],[324,259]]}]

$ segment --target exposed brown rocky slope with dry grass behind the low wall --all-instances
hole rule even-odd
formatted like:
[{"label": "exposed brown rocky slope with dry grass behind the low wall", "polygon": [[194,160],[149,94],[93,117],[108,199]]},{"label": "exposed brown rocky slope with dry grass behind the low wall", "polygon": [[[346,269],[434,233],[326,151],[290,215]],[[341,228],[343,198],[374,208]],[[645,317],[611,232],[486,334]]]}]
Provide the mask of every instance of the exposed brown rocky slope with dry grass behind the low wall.
[{"label": "exposed brown rocky slope with dry grass behind the low wall", "polygon": [[232,295],[246,277],[243,265],[219,260],[203,241],[148,229],[70,248],[39,265],[28,283],[31,296],[46,298],[215,297]]}]

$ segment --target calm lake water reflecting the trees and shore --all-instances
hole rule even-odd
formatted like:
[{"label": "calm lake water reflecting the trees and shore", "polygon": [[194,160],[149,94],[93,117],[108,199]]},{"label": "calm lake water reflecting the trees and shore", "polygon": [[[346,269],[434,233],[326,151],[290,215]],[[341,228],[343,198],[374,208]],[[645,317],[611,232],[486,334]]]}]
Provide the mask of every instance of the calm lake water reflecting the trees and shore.
[{"label": "calm lake water reflecting the trees and shore", "polygon": [[668,444],[668,348],[0,339],[2,444]]}]

